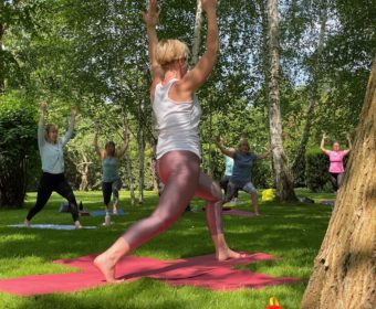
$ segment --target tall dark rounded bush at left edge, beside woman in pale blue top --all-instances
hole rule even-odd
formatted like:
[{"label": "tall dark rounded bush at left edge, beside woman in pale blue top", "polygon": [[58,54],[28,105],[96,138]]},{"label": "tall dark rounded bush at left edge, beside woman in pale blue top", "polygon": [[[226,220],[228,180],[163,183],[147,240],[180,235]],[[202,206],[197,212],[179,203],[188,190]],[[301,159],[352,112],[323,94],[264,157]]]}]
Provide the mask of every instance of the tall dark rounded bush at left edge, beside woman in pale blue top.
[{"label": "tall dark rounded bush at left edge, beside woman in pale blue top", "polygon": [[0,96],[0,207],[21,207],[36,149],[35,109],[18,94]]}]

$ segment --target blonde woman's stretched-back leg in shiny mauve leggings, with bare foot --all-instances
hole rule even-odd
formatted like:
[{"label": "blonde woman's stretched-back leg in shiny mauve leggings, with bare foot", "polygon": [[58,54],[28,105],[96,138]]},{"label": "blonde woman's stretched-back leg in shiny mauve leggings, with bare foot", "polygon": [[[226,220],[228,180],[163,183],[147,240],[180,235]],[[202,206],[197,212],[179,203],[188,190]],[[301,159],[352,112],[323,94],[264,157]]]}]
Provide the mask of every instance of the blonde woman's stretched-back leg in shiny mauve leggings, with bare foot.
[{"label": "blonde woman's stretched-back leg in shiny mauve leggings, with bare foot", "polygon": [[122,281],[115,278],[115,265],[124,255],[170,227],[185,212],[197,188],[199,164],[199,158],[189,151],[171,151],[160,159],[159,175],[166,185],[156,210],[94,260],[108,283]]}]

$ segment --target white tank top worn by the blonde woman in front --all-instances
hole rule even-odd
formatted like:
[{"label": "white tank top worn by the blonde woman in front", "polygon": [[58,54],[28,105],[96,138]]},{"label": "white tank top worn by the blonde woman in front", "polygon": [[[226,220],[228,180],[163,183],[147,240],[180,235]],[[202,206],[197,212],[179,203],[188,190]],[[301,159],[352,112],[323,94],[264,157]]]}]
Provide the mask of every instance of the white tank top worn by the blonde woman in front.
[{"label": "white tank top worn by the blonde woman in front", "polygon": [[157,159],[173,150],[188,150],[200,156],[199,122],[201,107],[194,95],[191,102],[174,102],[168,92],[178,79],[166,86],[159,83],[155,89],[153,110],[157,120]]}]

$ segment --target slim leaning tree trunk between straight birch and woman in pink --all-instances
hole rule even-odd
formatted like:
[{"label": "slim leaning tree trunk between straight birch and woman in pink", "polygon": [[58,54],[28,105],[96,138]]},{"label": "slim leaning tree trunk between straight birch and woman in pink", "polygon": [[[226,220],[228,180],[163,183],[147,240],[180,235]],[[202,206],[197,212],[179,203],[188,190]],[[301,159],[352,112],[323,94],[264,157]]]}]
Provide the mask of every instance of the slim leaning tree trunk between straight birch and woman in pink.
[{"label": "slim leaning tree trunk between straight birch and woman in pink", "polygon": [[315,61],[313,65],[313,79],[311,84],[310,104],[309,104],[309,108],[306,111],[306,120],[305,120],[305,126],[303,129],[301,143],[297,148],[295,159],[292,164],[292,172],[293,172],[294,179],[296,179],[296,175],[299,175],[300,171],[304,168],[305,148],[306,148],[306,143],[310,138],[311,126],[312,126],[312,120],[313,120],[313,111],[317,104],[318,84],[320,84],[320,79],[322,78],[322,74],[323,74],[322,72],[323,70],[321,65],[321,57],[322,57],[323,47],[324,47],[326,20],[327,20],[327,4],[326,4],[326,0],[323,0],[321,12],[320,12],[321,26],[320,26],[320,33],[318,33],[317,52],[316,52]]}]

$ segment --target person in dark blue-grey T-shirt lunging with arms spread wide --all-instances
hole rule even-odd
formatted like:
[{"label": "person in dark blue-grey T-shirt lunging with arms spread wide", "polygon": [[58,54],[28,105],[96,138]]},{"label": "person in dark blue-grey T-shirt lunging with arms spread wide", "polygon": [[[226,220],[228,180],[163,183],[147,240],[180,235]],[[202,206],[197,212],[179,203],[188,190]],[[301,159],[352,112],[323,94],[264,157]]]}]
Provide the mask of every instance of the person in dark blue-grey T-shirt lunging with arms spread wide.
[{"label": "person in dark blue-grey T-shirt lunging with arms spread wide", "polygon": [[250,152],[250,146],[244,138],[240,139],[238,150],[224,148],[219,137],[217,137],[213,141],[224,156],[233,159],[233,171],[227,188],[224,202],[230,202],[236,190],[243,190],[251,195],[254,215],[260,215],[258,191],[251,182],[251,168],[254,160],[265,159],[270,154],[271,150],[263,154],[254,154]]}]

